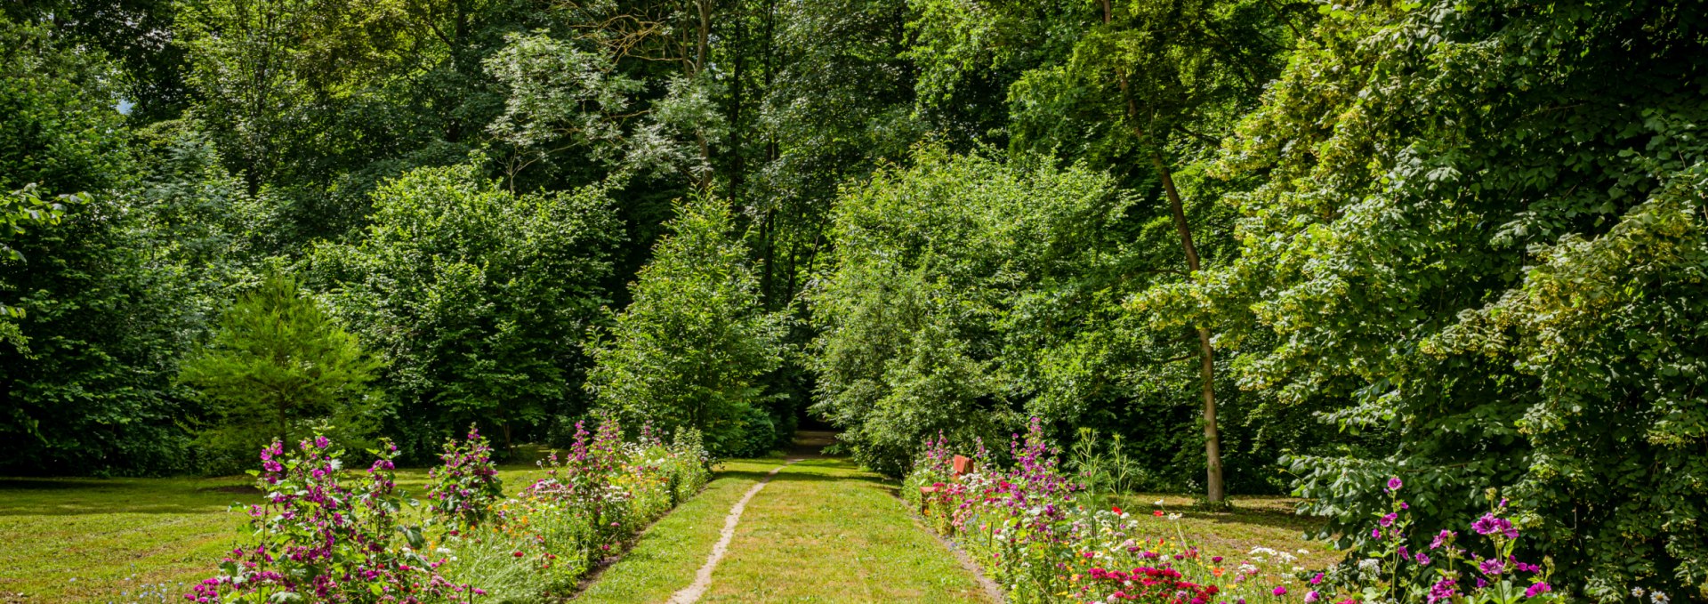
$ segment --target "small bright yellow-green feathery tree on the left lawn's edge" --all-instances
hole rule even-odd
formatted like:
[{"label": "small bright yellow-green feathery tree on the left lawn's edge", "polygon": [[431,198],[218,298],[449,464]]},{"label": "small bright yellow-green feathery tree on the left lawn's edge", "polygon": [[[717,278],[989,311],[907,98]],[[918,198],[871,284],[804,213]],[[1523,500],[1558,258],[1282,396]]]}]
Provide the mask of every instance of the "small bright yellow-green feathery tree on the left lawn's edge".
[{"label": "small bright yellow-green feathery tree on the left lawn's edge", "polygon": [[184,360],[178,379],[212,409],[200,440],[210,469],[225,471],[273,440],[328,433],[366,442],[384,409],[369,389],[381,367],[302,295],[295,276],[272,273],[225,309],[214,340]]}]

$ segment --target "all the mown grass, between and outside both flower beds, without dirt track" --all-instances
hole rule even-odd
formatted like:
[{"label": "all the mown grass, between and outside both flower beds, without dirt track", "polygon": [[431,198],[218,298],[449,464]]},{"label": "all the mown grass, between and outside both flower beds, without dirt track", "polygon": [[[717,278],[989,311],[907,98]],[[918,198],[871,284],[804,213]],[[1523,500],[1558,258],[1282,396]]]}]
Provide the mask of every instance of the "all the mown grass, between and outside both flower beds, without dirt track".
[{"label": "all the mown grass, between and outside both flower beds, without dirt track", "polygon": [[[524,456],[526,457],[526,456]],[[693,582],[724,515],[782,459],[719,464],[704,493],[661,519],[622,561],[576,601],[663,602]],[[514,491],[541,473],[500,468]],[[425,471],[398,471],[420,495]],[[0,478],[0,602],[181,602],[239,541],[258,502],[248,478],[5,479]],[[986,602],[939,543],[914,524],[893,483],[845,459],[813,457],[781,471],[741,515],[729,553],[704,602]],[[1158,498],[1179,520],[1151,517]],[[1255,546],[1307,549],[1301,566],[1339,560],[1301,539],[1319,524],[1290,514],[1293,500],[1237,498],[1208,514],[1190,498],[1134,495],[1115,502],[1155,529],[1185,534],[1208,555],[1242,556]]]}]

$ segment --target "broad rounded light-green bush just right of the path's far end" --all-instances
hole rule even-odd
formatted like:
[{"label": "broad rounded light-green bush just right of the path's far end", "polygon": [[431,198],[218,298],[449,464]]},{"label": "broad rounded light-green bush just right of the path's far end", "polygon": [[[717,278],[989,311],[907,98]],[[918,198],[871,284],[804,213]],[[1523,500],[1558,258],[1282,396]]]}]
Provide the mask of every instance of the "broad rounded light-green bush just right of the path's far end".
[{"label": "broad rounded light-green bush just right of the path's far end", "polygon": [[[941,147],[922,147],[915,164],[844,193],[837,249],[811,292],[822,322],[815,411],[844,428],[857,461],[892,474],[938,432],[997,442],[1020,425],[1023,406],[1066,421],[1083,411],[1028,379],[1035,374],[1020,362],[1035,343],[1018,340],[1052,324],[1068,333],[1049,341],[1071,346],[1088,331],[1073,324],[1108,312],[1108,295],[1093,297],[1102,309],[1061,302],[1079,287],[1119,287],[1079,278],[1119,275],[1120,258],[1107,246],[1131,201],[1079,167]],[[1011,341],[1025,350],[1009,350]]]}]

